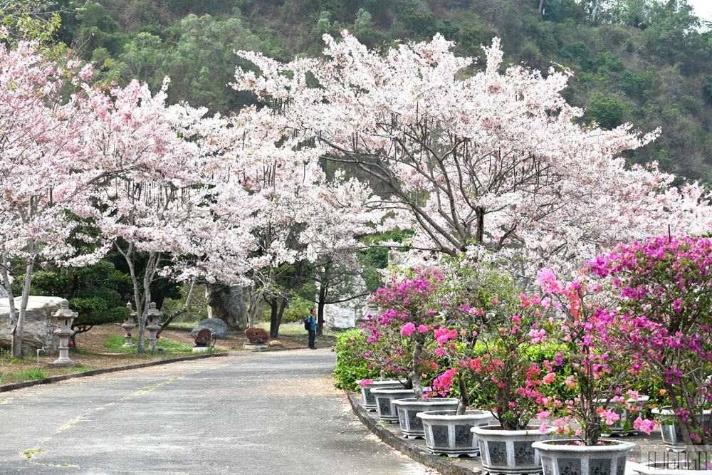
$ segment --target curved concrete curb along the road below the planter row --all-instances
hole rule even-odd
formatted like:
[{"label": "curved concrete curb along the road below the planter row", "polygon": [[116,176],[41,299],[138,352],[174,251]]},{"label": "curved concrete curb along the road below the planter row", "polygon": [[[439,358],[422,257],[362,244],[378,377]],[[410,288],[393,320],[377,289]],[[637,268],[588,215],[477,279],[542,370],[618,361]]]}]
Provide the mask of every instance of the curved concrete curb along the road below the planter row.
[{"label": "curved concrete curb along the road below the planter row", "polygon": [[414,461],[417,461],[425,466],[429,466],[431,469],[436,469],[441,475],[475,475],[481,472],[472,471],[466,469],[463,466],[458,466],[452,462],[441,459],[439,456],[426,452],[412,444],[409,444],[407,439],[401,439],[396,437],[389,430],[381,427],[375,419],[372,419],[366,409],[361,405],[357,396],[351,392],[347,391],[346,395],[348,397],[351,408],[354,414],[359,420],[364,424],[373,434],[375,434],[379,439],[381,439],[385,444],[393,447],[397,451],[406,454]]}]

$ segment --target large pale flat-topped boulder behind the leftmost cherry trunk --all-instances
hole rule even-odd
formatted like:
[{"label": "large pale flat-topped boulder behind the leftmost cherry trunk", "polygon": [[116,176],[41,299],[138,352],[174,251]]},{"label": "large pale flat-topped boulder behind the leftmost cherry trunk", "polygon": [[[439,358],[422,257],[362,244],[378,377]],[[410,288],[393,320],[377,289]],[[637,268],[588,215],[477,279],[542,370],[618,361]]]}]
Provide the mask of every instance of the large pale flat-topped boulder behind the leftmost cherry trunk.
[{"label": "large pale flat-topped boulder behind the leftmost cherry trunk", "polygon": [[[15,309],[18,313],[20,301],[20,297],[15,298]],[[51,303],[58,301],[58,297],[31,296],[29,298],[22,331],[23,355],[34,355],[38,348],[44,348],[47,354],[59,351],[59,338],[54,335],[55,325],[51,320],[52,311],[56,310]],[[7,298],[0,300],[0,348],[5,350],[12,348],[10,303]]]}]

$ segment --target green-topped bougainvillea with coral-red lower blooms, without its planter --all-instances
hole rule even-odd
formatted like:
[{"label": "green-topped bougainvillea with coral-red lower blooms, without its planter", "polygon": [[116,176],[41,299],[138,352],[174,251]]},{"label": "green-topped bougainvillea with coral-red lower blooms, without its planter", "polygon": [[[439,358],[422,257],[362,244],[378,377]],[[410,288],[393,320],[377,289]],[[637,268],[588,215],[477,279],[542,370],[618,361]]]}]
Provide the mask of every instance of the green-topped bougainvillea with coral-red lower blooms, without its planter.
[{"label": "green-topped bougainvillea with coral-red lower blooms, without its planter", "polygon": [[532,360],[546,341],[540,312],[520,305],[518,286],[501,270],[460,268],[449,283],[449,318],[434,330],[436,354],[449,365],[433,391],[459,387],[462,412],[476,391],[503,428],[527,427],[540,406],[541,376],[550,369]]}]

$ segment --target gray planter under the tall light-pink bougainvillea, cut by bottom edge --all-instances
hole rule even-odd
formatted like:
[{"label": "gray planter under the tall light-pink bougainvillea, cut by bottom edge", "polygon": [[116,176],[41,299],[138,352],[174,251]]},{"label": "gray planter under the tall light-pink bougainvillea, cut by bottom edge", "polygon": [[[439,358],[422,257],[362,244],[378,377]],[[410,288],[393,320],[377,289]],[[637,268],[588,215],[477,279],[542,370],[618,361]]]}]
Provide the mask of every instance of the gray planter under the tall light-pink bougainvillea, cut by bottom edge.
[{"label": "gray planter under the tall light-pink bougainvillea, cut by bottom edge", "polygon": [[534,442],[544,475],[624,475],[632,442],[607,440],[604,445],[576,445],[577,439]]}]

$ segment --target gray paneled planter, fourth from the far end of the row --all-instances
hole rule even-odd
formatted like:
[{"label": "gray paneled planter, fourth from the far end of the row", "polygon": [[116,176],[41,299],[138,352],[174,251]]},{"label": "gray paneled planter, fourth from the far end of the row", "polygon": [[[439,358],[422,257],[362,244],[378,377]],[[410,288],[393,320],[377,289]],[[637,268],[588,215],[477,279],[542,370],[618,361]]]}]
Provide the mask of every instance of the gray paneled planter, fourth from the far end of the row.
[{"label": "gray paneled planter, fourth from the far end of the row", "polygon": [[436,455],[456,457],[478,456],[480,447],[477,435],[470,429],[487,426],[494,421],[491,412],[466,411],[456,415],[456,411],[429,411],[418,414],[423,421],[425,444]]}]

